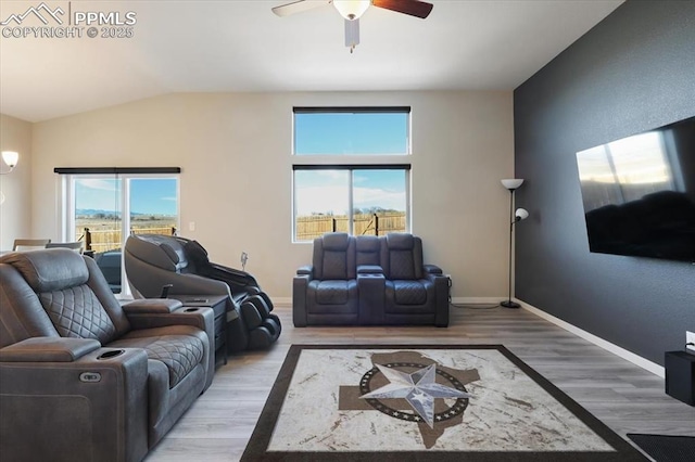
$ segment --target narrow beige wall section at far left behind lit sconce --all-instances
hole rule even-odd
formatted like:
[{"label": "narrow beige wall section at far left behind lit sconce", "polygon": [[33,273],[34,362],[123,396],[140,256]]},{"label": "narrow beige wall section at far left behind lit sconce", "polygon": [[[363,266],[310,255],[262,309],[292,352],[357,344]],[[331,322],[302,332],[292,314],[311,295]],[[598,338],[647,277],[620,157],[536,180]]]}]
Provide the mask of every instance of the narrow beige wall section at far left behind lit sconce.
[{"label": "narrow beige wall section at far left behind lit sconce", "polygon": [[[31,234],[31,124],[0,115],[0,150],[20,153],[14,170],[0,175],[0,249],[8,251],[17,238],[41,238]],[[0,167],[8,171],[4,163]]]}]

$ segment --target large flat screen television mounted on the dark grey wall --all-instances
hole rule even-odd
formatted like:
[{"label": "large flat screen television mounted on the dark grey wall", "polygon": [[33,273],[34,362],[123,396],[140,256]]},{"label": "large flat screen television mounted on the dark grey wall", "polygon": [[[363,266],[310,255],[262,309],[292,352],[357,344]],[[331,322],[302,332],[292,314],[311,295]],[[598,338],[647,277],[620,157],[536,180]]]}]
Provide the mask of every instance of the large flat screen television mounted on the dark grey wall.
[{"label": "large flat screen television mounted on the dark grey wall", "polygon": [[695,262],[695,117],[577,153],[589,248]]}]

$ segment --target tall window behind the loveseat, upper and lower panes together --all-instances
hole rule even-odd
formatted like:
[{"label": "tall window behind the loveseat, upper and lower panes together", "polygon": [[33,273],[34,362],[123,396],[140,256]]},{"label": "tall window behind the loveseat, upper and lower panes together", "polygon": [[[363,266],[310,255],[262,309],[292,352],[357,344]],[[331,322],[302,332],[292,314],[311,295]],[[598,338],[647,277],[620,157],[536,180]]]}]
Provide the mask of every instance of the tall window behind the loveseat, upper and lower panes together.
[{"label": "tall window behind the loveseat, upper and lower panes together", "polygon": [[409,141],[408,107],[295,107],[294,241],[407,231]]}]

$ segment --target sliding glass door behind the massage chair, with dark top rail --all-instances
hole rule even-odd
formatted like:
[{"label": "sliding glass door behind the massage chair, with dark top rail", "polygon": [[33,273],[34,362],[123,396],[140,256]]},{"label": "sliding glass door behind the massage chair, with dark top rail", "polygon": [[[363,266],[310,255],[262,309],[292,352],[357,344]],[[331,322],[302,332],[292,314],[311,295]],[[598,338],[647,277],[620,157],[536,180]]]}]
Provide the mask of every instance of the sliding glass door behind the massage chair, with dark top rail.
[{"label": "sliding glass door behind the massage chair, with dark top rail", "polygon": [[63,235],[65,241],[83,241],[111,290],[127,294],[122,248],[128,235],[175,234],[178,229],[178,169],[102,170],[55,169],[66,174]]}]

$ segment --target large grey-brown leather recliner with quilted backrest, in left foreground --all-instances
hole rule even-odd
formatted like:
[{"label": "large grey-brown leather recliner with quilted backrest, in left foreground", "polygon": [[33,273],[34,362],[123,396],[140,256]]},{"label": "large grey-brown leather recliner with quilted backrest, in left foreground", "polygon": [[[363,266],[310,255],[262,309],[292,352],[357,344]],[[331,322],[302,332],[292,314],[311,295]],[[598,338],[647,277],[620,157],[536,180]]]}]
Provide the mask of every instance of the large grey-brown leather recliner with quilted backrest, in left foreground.
[{"label": "large grey-brown leather recliner with quilted backrest, in left foreground", "polygon": [[71,249],[0,257],[0,440],[8,461],[139,461],[212,383],[213,312],[123,307]]}]

